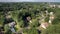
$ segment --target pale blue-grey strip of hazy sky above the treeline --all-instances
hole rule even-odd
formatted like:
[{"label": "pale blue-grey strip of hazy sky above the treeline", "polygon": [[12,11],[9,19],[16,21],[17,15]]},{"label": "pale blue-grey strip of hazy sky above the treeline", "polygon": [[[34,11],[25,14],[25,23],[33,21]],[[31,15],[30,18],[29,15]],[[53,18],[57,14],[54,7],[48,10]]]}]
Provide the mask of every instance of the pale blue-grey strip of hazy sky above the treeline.
[{"label": "pale blue-grey strip of hazy sky above the treeline", "polygon": [[60,0],[0,0],[0,2],[60,2]]}]

